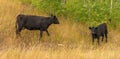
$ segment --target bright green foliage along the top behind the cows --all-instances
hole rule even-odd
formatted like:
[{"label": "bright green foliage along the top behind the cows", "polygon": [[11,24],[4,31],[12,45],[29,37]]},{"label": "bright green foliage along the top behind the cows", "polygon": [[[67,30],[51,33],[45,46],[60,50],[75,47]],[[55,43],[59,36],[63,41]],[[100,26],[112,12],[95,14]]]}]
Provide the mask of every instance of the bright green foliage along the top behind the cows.
[{"label": "bright green foliage along the top behind the cows", "polygon": [[[46,13],[63,15],[80,22],[99,24],[112,19],[112,24],[120,22],[119,0],[22,0]],[[112,5],[111,5],[112,2]],[[94,26],[94,25],[93,25]]]}]

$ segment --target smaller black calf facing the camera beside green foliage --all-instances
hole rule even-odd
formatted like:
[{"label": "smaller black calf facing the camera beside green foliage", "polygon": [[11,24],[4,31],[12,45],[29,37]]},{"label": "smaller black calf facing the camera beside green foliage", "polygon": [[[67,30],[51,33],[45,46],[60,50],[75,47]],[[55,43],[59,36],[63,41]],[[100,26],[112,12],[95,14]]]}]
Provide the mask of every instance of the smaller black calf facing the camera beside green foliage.
[{"label": "smaller black calf facing the camera beside green foliage", "polygon": [[100,36],[102,37],[102,41],[103,41],[104,36],[105,36],[106,37],[106,42],[107,42],[108,30],[107,30],[106,23],[102,23],[102,24],[98,25],[97,27],[89,27],[89,29],[91,30],[92,42],[93,43],[94,43],[94,39],[97,38],[97,42],[98,42],[98,45],[99,45]]}]

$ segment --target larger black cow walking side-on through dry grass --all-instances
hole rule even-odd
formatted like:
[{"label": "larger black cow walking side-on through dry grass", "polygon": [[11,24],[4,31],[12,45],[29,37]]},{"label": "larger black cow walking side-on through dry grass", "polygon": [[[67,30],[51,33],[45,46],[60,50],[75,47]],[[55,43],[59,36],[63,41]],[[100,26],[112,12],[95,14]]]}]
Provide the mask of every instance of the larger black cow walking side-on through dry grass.
[{"label": "larger black cow walking side-on through dry grass", "polygon": [[54,15],[44,17],[19,14],[16,20],[16,35],[20,35],[22,29],[28,29],[40,30],[40,38],[42,38],[43,31],[46,31],[49,36],[50,34],[47,29],[51,24],[59,24],[57,17]]}]

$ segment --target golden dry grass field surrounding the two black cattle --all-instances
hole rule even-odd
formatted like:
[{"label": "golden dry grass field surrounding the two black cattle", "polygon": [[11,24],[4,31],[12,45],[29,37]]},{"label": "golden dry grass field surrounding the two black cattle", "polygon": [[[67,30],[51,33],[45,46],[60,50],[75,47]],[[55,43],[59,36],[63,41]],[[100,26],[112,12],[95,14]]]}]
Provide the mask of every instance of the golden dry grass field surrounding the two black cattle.
[{"label": "golden dry grass field surrounding the two black cattle", "polygon": [[22,31],[15,38],[15,21],[18,14],[43,15],[33,7],[13,0],[0,0],[0,59],[120,59],[120,31],[109,29],[108,43],[91,45],[86,25],[60,17],[59,25],[49,28],[50,37],[38,44],[39,31]]}]

